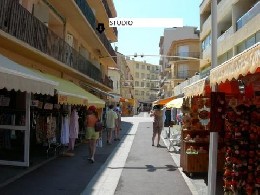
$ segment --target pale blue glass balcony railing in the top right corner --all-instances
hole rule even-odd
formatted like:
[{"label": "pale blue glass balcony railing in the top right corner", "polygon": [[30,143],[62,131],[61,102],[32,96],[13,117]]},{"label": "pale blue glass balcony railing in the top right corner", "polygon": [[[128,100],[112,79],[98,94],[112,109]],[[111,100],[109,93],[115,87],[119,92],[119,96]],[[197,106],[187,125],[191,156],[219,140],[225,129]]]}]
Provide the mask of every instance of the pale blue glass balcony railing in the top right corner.
[{"label": "pale blue glass balcony railing in the top right corner", "polygon": [[260,1],[258,1],[254,7],[252,7],[247,13],[237,20],[237,30],[242,28],[248,21],[260,13]]}]

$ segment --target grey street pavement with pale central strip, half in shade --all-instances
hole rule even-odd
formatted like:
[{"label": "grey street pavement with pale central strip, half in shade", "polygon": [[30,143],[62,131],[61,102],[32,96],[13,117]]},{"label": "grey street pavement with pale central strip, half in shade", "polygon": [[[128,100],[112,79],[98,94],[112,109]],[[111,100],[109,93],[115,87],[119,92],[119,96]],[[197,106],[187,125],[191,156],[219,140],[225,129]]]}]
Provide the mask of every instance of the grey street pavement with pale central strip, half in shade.
[{"label": "grey street pavement with pale central strip, half in shade", "polygon": [[[121,140],[97,148],[95,163],[87,160],[87,146],[75,156],[60,156],[1,187],[1,195],[130,195],[206,194],[202,178],[188,178],[179,167],[179,154],[168,152],[165,131],[160,144],[151,144],[148,113],[122,117]],[[20,173],[19,173],[20,174]]]}]

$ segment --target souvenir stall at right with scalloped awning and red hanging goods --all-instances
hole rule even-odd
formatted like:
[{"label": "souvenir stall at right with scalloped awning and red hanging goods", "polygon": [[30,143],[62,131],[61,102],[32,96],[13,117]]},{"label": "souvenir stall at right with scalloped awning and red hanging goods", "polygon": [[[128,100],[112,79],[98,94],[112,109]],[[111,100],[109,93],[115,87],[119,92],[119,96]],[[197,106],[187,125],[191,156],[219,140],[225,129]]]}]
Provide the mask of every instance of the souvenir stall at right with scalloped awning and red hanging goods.
[{"label": "souvenir stall at right with scalloped awning and red hanging goods", "polygon": [[211,126],[225,143],[225,194],[259,194],[260,43],[212,69],[210,84],[217,88],[211,107],[220,116]]}]

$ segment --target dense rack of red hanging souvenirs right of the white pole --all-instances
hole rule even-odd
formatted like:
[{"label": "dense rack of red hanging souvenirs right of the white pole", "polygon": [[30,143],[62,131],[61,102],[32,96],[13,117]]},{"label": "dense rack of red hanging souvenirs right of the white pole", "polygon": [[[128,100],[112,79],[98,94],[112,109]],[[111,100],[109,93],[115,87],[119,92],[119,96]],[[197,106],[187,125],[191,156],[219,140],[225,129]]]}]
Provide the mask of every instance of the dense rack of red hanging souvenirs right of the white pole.
[{"label": "dense rack of red hanging souvenirs right of the white pole", "polygon": [[240,94],[227,97],[225,115],[224,191],[227,195],[259,194],[260,188],[260,82],[245,77]]}]

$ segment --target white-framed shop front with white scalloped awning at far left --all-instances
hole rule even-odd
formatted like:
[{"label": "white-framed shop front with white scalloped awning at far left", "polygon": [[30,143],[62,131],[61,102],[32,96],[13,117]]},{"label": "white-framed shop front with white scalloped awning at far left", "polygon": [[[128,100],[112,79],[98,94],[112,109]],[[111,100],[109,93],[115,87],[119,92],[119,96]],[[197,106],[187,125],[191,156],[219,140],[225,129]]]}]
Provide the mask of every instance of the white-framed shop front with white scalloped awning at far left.
[{"label": "white-framed shop front with white scalloped awning at far left", "polygon": [[0,164],[29,166],[31,93],[53,96],[57,85],[0,55]]}]

